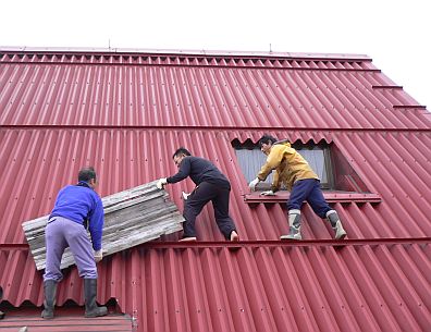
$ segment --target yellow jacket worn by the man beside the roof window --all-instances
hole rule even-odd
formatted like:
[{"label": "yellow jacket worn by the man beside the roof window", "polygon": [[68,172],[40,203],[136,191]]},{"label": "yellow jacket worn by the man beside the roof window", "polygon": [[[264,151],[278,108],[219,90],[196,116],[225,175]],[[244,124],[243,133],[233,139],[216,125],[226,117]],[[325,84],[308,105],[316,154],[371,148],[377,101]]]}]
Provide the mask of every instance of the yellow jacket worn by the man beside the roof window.
[{"label": "yellow jacket worn by the man beside the roof window", "polygon": [[267,163],[262,165],[257,177],[260,181],[264,181],[272,170],[275,170],[271,185],[273,192],[279,190],[282,183],[291,190],[294,183],[298,180],[319,180],[319,176],[312,171],[307,160],[292,148],[287,142],[274,144],[271,147]]}]

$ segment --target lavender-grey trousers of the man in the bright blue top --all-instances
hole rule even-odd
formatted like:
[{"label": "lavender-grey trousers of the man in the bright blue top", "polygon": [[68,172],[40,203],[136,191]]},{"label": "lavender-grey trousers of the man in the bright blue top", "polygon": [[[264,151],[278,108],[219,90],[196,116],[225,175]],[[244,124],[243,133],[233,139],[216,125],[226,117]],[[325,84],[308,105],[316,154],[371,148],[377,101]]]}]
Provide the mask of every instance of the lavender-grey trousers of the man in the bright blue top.
[{"label": "lavender-grey trousers of the man in the bright blue top", "polygon": [[45,229],[47,262],[44,281],[63,279],[60,270],[61,257],[71,248],[81,278],[97,279],[97,268],[91,242],[82,224],[62,217],[51,218]]}]

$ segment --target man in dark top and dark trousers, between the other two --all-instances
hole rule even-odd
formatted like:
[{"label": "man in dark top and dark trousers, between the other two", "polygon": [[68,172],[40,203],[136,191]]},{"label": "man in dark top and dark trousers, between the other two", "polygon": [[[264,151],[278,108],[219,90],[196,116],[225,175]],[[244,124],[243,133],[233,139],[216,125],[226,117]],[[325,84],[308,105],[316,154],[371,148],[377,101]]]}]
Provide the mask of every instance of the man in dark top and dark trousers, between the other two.
[{"label": "man in dark top and dark trousers, between the other two", "polygon": [[185,148],[180,148],[173,155],[173,161],[178,172],[170,177],[160,179],[157,187],[162,189],[168,183],[180,182],[187,176],[196,184],[195,189],[186,197],[184,206],[182,241],[196,241],[195,221],[204,206],[212,201],[217,225],[224,237],[230,241],[239,241],[235,224],[229,216],[229,196],[231,184],[226,176],[210,161],[194,157]]}]

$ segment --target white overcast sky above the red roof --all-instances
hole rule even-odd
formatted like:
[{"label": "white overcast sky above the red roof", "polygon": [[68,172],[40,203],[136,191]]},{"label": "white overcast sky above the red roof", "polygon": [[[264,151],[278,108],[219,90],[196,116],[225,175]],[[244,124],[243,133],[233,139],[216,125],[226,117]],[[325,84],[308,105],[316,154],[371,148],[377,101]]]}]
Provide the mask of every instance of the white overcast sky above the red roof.
[{"label": "white overcast sky above the red roof", "polygon": [[367,54],[431,110],[428,0],[0,0],[0,46]]}]

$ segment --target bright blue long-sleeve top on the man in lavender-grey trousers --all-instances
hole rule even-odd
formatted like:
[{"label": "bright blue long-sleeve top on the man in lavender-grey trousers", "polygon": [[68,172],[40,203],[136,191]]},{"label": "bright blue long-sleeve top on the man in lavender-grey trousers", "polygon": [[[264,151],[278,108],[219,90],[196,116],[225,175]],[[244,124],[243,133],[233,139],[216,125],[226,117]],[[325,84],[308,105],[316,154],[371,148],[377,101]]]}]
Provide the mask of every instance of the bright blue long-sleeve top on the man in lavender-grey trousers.
[{"label": "bright blue long-sleeve top on the man in lavender-grey trousers", "polygon": [[99,195],[86,182],[65,186],[59,192],[49,219],[56,216],[81,223],[83,226],[84,220],[87,220],[93,248],[101,249],[103,205]]}]

